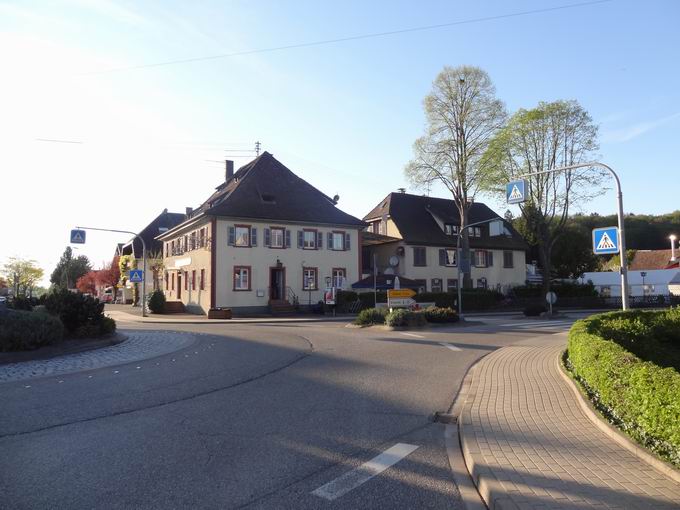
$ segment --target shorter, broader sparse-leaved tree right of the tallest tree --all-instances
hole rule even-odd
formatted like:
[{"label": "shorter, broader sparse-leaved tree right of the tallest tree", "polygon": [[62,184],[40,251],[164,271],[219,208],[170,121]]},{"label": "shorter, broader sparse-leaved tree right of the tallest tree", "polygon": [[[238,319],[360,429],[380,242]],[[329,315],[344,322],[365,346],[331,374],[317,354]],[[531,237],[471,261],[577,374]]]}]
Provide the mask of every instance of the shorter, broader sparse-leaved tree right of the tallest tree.
[{"label": "shorter, broader sparse-leaved tree right of the tallest tree", "polygon": [[520,205],[528,240],[538,246],[544,289],[550,289],[552,250],[569,211],[602,193],[604,174],[587,167],[545,173],[591,161],[597,126],[577,101],[541,102],[519,110],[498,132],[484,157],[484,188],[505,199],[505,183],[526,175],[527,201]]}]

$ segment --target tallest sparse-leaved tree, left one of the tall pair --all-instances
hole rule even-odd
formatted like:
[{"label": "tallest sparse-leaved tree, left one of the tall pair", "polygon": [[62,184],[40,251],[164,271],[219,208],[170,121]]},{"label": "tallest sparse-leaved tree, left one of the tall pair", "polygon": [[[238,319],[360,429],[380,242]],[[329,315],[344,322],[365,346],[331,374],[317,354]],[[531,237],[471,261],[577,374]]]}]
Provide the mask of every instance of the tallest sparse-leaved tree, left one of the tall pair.
[{"label": "tallest sparse-leaved tree, left one of the tall pair", "polygon": [[[440,183],[451,193],[463,232],[462,248],[469,257],[468,211],[480,189],[483,159],[489,142],[506,120],[505,106],[496,98],[489,75],[478,67],[445,67],[425,97],[425,134],[413,144],[406,176],[419,188]],[[466,275],[464,286],[470,286]]]}]

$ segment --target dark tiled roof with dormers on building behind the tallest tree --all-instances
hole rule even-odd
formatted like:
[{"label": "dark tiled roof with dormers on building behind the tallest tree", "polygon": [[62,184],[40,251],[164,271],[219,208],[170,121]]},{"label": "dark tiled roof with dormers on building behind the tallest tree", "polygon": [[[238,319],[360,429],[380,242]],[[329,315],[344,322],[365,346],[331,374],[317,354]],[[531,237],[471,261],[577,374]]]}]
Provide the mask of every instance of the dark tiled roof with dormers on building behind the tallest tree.
[{"label": "dark tiled roof with dormers on building behind the tallest tree", "polygon": [[[453,200],[444,198],[411,195],[409,193],[390,193],[371,210],[364,220],[390,216],[407,244],[425,246],[455,246],[456,236],[448,236],[441,229],[433,215],[444,223],[460,225],[458,209]],[[497,218],[498,214],[481,202],[470,206],[468,224]],[[525,250],[527,244],[512,226],[504,222],[511,235],[489,236],[489,226],[480,225],[482,237],[470,237],[473,248],[498,248]]]}]

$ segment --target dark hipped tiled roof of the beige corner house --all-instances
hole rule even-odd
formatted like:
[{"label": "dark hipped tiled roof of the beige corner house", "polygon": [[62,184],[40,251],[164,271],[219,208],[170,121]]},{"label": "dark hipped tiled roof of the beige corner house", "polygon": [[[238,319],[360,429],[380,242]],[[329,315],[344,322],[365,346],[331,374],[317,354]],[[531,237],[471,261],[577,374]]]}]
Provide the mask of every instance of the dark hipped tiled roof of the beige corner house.
[{"label": "dark hipped tiled roof of the beige corner house", "polygon": [[268,152],[239,168],[194,213],[274,221],[365,226]]}]

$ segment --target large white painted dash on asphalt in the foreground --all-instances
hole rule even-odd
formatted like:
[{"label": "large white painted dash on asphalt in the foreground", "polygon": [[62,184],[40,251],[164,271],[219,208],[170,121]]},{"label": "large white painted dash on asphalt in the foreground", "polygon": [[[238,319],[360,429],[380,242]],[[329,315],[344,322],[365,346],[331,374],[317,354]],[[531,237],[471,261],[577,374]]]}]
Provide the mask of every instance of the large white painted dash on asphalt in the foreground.
[{"label": "large white painted dash on asphalt in the foreground", "polygon": [[412,444],[397,443],[391,448],[385,450],[380,455],[373,457],[368,462],[363,463],[361,466],[349,471],[348,473],[345,473],[332,482],[328,482],[326,485],[322,485],[315,491],[312,491],[312,494],[329,501],[338,499],[339,497],[347,494],[349,491],[356,489],[360,485],[363,485],[374,476],[379,475],[387,468],[395,465],[401,459],[414,452],[418,448],[418,446]]}]

